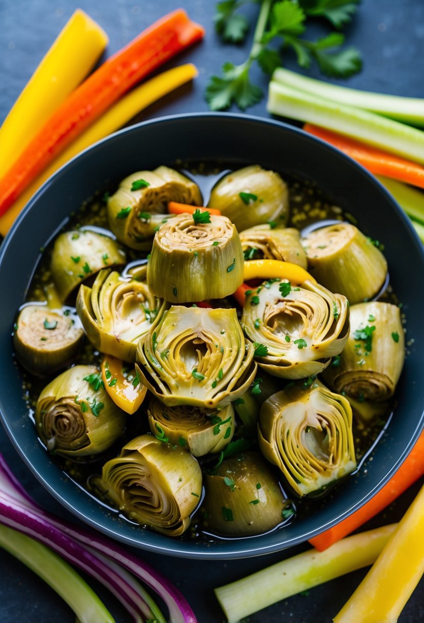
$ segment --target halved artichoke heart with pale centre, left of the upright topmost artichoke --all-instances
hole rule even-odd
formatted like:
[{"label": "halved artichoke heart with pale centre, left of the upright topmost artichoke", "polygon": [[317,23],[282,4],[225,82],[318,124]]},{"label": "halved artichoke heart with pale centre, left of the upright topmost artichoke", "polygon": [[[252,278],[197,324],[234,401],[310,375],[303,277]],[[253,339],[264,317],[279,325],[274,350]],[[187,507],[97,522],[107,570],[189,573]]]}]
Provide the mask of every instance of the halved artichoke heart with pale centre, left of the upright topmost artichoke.
[{"label": "halved artichoke heart with pale centre, left of the upright topmost artichoke", "polygon": [[101,270],[93,288],[81,285],[76,310],[91,343],[102,353],[136,361],[137,342],[159,320],[167,304],[145,282]]}]

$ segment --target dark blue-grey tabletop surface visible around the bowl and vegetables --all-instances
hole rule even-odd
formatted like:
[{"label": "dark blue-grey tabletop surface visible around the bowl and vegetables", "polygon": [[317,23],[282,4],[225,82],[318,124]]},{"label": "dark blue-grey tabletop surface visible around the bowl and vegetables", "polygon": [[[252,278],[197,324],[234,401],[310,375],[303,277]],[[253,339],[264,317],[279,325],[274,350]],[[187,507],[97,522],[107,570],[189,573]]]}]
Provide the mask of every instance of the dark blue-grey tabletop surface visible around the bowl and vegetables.
[{"label": "dark blue-grey tabletop surface visible around the bowl and vegetables", "polygon": [[[166,12],[184,6],[192,19],[206,27],[205,40],[188,50],[165,68],[182,62],[193,62],[199,77],[193,85],[182,87],[146,110],[137,120],[172,113],[207,110],[203,99],[206,80],[216,73],[226,60],[242,62],[248,45],[241,47],[221,45],[213,31],[214,2],[212,0],[0,0],[0,121],[4,119],[14,100],[21,92],[35,67],[57,36],[71,13],[80,6],[99,22],[109,36],[108,55],[127,44],[142,29]],[[257,11],[251,7],[252,17]],[[321,26],[316,26],[318,32]],[[423,0],[364,0],[353,24],[346,29],[346,38],[361,50],[364,69],[350,78],[349,86],[396,95],[424,97],[424,2]],[[294,69],[293,59],[287,66]],[[318,72],[311,70],[315,77]],[[264,91],[267,80],[260,72],[254,78]],[[265,100],[252,107],[249,113],[268,117]],[[1,147],[0,147],[1,148]],[[19,459],[9,439],[0,429],[0,449],[17,477],[46,508],[66,516],[65,510],[39,485]],[[416,483],[397,503],[365,527],[374,527],[399,520],[408,503],[417,493]],[[141,558],[167,574],[185,594],[196,612],[199,623],[224,621],[213,595],[213,587],[234,581],[252,571],[264,568],[282,558],[302,551],[306,546],[238,561],[190,561],[168,558],[158,554],[138,551]],[[27,623],[41,619],[44,623],[74,621],[73,613],[32,572],[14,558],[0,551],[0,623]],[[365,571],[357,571],[309,591],[307,596],[295,596],[249,617],[251,623],[325,623],[331,621]],[[402,581],[402,569],[399,570]],[[91,583],[116,617],[116,621],[129,621],[119,604]],[[399,623],[424,621],[424,582],[422,581],[408,601]],[[360,623],[360,622],[358,622]],[[378,622],[376,622],[378,623]]]}]

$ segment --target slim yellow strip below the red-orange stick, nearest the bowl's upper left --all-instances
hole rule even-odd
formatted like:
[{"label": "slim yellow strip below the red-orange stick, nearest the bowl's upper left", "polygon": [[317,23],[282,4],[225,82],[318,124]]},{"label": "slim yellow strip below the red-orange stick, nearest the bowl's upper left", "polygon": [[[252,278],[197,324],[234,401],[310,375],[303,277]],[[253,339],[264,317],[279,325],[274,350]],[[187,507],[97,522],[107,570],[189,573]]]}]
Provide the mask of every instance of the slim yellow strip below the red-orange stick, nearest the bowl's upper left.
[{"label": "slim yellow strip below the red-orange stick, nearest the bowl's upper left", "polygon": [[73,143],[45,169],[44,173],[35,179],[26,191],[18,197],[17,201],[14,202],[6,214],[0,217],[0,234],[7,234],[17,215],[35,194],[35,191],[37,191],[40,186],[44,184],[46,179],[50,178],[57,169],[63,166],[63,164],[67,163],[68,160],[87,147],[90,147],[90,145],[93,145],[93,143],[119,130],[119,128],[125,125],[141,110],[144,110],[144,108],[147,108],[150,104],[164,97],[164,95],[167,95],[167,93],[170,93],[175,88],[181,87],[197,75],[198,72],[195,65],[191,63],[180,65],[180,67],[174,67],[173,69],[169,69],[151,78],[140,87],[132,90],[125,97],[122,97],[122,99],[109,108],[98,121],[92,123],[78,139],[73,141]]}]

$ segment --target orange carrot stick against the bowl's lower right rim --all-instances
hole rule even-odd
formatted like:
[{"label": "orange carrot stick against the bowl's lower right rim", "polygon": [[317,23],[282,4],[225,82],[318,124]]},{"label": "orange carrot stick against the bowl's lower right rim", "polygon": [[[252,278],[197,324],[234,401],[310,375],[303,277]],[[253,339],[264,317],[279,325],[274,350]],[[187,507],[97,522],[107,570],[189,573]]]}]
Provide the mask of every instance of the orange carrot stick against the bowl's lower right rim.
[{"label": "orange carrot stick against the bowl's lower right rim", "polygon": [[362,526],[366,521],[377,515],[383,508],[389,506],[401,493],[424,474],[424,432],[418,437],[410,454],[400,465],[399,469],[389,482],[374,497],[359,510],[355,511],[333,528],[329,528],[320,535],[309,540],[318,551],[324,551],[344,536]]}]

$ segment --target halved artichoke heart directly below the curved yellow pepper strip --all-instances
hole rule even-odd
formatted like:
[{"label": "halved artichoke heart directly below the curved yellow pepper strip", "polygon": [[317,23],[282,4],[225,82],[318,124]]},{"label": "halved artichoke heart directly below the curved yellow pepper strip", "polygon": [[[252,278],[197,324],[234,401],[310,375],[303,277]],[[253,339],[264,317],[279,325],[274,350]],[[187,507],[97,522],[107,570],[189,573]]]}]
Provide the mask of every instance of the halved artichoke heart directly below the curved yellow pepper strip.
[{"label": "halved artichoke heart directly below the curved yellow pepper strip", "polygon": [[246,294],[241,323],[256,346],[259,366],[274,376],[300,379],[319,374],[349,336],[343,295],[306,280],[265,282]]}]

